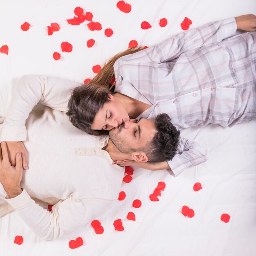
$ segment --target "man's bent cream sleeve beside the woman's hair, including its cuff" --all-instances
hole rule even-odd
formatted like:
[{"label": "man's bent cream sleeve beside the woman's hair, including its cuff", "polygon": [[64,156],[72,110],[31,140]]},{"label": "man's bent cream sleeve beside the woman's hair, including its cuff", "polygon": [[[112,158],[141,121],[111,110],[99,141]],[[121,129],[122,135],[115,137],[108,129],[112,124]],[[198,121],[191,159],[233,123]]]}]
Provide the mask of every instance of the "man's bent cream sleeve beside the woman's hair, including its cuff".
[{"label": "man's bent cream sleeve beside the woman's hair, including its cuff", "polygon": [[25,141],[25,122],[34,106],[41,103],[56,110],[66,111],[71,90],[79,85],[51,76],[22,76],[13,90],[0,141]]}]

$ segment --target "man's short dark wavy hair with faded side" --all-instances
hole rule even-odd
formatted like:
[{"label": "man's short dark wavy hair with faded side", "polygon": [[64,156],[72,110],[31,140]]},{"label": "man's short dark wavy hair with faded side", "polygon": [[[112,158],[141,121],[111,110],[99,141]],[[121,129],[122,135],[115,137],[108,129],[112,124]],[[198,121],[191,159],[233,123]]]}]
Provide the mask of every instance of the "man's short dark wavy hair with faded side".
[{"label": "man's short dark wavy hair with faded side", "polygon": [[171,118],[165,114],[159,114],[155,118],[157,132],[153,141],[150,141],[144,149],[148,156],[148,162],[164,162],[173,159],[179,145],[180,131],[171,123]]}]

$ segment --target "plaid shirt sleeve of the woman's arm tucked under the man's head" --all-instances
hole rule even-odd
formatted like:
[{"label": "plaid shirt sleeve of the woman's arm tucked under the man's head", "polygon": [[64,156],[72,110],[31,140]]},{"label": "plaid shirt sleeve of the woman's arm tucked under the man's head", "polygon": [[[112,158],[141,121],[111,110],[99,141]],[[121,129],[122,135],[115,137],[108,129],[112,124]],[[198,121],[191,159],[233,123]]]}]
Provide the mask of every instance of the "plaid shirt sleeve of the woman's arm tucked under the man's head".
[{"label": "plaid shirt sleeve of the woman's arm tucked under the man's head", "polygon": [[167,170],[170,174],[174,174],[175,177],[182,171],[190,166],[201,164],[209,158],[207,149],[198,145],[191,139],[180,139],[180,144],[177,149],[177,154],[172,160],[168,161],[168,165],[171,168]]}]

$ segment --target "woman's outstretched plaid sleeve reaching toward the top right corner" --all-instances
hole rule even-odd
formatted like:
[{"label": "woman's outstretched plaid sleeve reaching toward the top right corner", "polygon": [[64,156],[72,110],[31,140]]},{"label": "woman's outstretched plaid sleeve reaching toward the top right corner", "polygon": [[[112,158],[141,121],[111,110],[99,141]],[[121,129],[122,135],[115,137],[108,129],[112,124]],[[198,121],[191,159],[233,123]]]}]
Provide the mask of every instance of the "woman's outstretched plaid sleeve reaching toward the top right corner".
[{"label": "woman's outstretched plaid sleeve reaching toward the top right corner", "polygon": [[236,30],[237,25],[235,18],[229,18],[182,32],[158,43],[157,45],[148,47],[135,54],[119,58],[116,65],[114,65],[115,72],[120,64],[118,63],[119,61],[134,63],[168,62],[179,57],[184,52],[196,49],[203,45],[219,43],[226,38],[234,36]]}]

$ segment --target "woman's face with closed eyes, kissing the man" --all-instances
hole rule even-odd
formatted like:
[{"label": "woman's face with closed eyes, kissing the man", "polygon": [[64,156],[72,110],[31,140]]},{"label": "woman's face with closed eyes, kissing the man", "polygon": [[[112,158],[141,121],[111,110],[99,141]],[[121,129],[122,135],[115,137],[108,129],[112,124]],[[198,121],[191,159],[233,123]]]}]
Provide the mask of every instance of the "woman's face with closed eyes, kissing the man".
[{"label": "woman's face with closed eyes, kissing the man", "polygon": [[113,95],[109,94],[110,101],[104,103],[92,123],[93,130],[111,130],[130,120],[124,105]]}]

